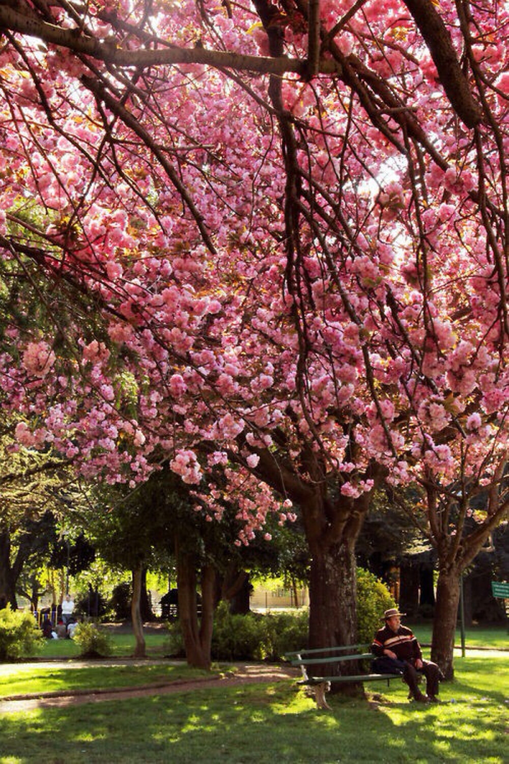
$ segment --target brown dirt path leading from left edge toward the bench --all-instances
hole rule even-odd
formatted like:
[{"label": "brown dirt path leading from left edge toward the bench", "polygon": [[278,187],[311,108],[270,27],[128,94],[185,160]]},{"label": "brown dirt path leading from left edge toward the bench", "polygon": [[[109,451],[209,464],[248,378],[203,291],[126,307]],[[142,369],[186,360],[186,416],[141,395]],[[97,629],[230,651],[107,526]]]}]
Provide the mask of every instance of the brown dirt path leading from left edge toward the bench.
[{"label": "brown dirt path leading from left edge toward the bench", "polygon": [[177,679],[172,682],[153,682],[151,685],[133,688],[110,688],[108,690],[95,691],[72,690],[47,692],[37,695],[17,695],[15,698],[5,698],[0,701],[0,716],[2,714],[13,714],[18,711],[32,711],[37,708],[65,707],[100,701],[127,700],[128,698],[146,698],[149,695],[166,695],[208,687],[235,687],[253,682],[282,681],[288,678],[298,678],[298,672],[286,666],[264,664],[236,665],[235,671],[214,675],[210,678],[197,678],[192,681]]}]

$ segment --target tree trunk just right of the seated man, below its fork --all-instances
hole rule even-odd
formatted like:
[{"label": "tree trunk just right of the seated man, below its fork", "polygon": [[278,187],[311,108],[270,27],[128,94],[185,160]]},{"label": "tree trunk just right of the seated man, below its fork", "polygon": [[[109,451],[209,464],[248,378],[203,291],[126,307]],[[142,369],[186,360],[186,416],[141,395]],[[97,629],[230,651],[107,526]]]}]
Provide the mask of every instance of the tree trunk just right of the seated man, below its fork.
[{"label": "tree trunk just right of the seated man, below its fork", "polygon": [[437,602],[433,619],[431,660],[438,663],[446,679],[453,679],[453,649],[459,605],[457,568],[442,568],[438,574]]}]

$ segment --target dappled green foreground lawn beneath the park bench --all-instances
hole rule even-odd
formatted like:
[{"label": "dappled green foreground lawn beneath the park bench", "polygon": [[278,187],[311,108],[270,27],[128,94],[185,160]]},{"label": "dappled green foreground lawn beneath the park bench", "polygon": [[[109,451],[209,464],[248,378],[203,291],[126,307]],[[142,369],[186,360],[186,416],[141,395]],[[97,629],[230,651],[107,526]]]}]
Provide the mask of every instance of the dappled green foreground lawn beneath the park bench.
[{"label": "dappled green foreground lawn beneath the park bench", "polygon": [[[162,669],[142,666],[138,677],[147,684]],[[118,667],[101,670],[115,683],[121,677]],[[90,671],[82,669],[83,683],[93,683]],[[79,673],[71,676],[80,685]],[[371,704],[328,696],[332,710],[318,711],[288,680],[39,708],[0,719],[0,762],[503,764],[508,679],[509,658],[483,656],[457,660],[455,681],[441,686],[443,703],[429,707],[409,703],[395,681],[377,684]]]}]

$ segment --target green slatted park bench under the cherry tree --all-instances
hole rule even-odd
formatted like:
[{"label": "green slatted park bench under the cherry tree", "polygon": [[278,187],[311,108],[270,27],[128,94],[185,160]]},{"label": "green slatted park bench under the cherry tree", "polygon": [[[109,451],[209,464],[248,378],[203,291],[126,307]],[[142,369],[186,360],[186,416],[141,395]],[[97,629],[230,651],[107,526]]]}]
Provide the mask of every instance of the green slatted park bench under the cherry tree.
[{"label": "green slatted park bench under the cherry tree", "polygon": [[318,708],[329,708],[325,700],[325,693],[330,689],[333,683],[346,682],[365,682],[379,681],[385,679],[387,684],[391,679],[401,679],[401,674],[345,674],[345,675],[314,675],[314,666],[337,665],[346,661],[362,661],[374,658],[372,652],[368,652],[371,646],[368,645],[347,645],[341,647],[318,647],[314,649],[303,649],[295,652],[286,652],[285,660],[298,666],[302,672],[302,678],[298,681],[299,685],[308,685],[313,688],[314,697]]}]

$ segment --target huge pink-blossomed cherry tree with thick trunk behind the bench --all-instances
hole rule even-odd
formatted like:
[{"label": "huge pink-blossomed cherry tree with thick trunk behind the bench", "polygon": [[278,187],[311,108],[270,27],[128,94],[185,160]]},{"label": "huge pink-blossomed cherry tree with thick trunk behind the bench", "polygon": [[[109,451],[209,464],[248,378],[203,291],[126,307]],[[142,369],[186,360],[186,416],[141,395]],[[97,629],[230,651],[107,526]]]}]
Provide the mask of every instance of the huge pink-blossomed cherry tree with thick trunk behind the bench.
[{"label": "huge pink-blossomed cherry tree with thick trunk behind the bench", "polygon": [[298,507],[311,646],[352,643],[377,485],[432,513],[482,484],[479,545],[507,512],[506,5],[34,0],[0,27],[18,443],[133,486],[169,461],[240,544]]}]

